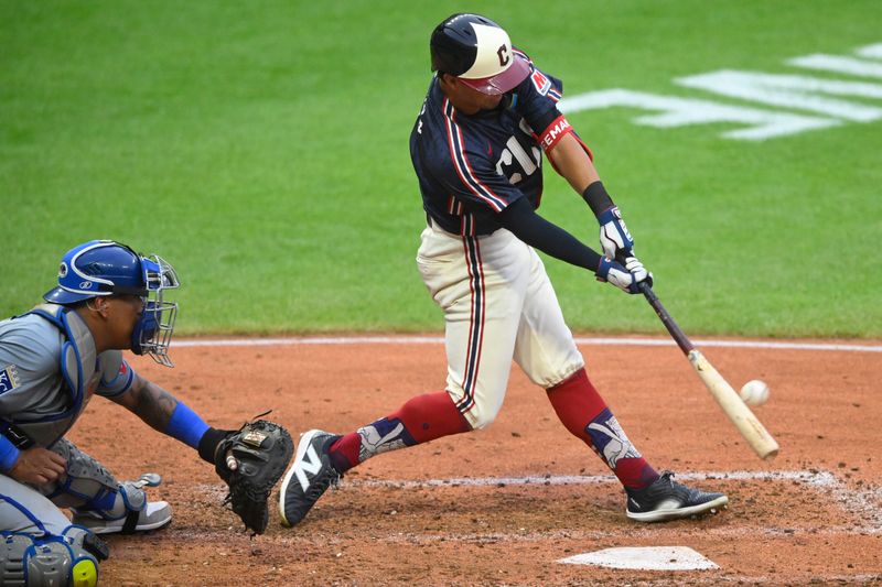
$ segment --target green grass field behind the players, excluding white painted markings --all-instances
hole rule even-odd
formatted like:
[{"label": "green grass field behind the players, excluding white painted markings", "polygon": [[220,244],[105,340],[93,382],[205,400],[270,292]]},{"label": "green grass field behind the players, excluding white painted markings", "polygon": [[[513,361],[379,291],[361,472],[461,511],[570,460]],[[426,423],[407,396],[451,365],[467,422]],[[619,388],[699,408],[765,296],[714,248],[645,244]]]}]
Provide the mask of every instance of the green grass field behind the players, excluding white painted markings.
[{"label": "green grass field behind the players, excluding white painted markings", "polygon": [[[716,99],[673,79],[882,42],[874,1],[2,0],[0,315],[34,304],[65,250],[114,238],[179,270],[185,334],[439,329],[407,141],[431,28],[460,10],[568,94]],[[882,336],[882,122],[747,143],[642,113],[569,118],[687,331]],[[541,213],[596,246],[552,175]],[[659,331],[641,300],[546,265],[573,329]]]}]

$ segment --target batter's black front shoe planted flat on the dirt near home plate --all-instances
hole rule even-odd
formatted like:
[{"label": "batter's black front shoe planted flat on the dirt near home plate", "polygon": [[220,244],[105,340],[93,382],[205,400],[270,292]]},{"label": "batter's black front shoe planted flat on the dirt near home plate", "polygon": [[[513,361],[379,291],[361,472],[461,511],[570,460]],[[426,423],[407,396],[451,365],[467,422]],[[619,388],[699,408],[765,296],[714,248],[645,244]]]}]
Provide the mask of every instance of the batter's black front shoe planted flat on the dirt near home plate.
[{"label": "batter's black front shoe planted flat on the dirt near home plate", "polygon": [[638,522],[666,522],[702,513],[717,513],[729,503],[723,493],[700,491],[676,482],[674,474],[665,471],[649,487],[625,489],[627,517]]}]

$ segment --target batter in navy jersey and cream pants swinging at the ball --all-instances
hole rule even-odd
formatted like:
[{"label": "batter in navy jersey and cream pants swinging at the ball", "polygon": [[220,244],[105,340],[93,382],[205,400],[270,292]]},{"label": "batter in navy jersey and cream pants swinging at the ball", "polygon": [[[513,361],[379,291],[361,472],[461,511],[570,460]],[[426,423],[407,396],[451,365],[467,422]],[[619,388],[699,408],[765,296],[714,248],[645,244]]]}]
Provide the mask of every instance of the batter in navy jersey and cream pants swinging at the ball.
[{"label": "batter in navy jersey and cream pants swinging at the ball", "polygon": [[[588,378],[535,251],[627,294],[652,283],[591,151],[557,108],[561,81],[476,14],[440,23],[430,53],[435,75],[410,156],[428,222],[417,263],[444,312],[447,387],[349,434],[305,433],[282,483],[282,521],[299,523],[329,486],[367,458],[491,424],[513,359],[622,482],[628,518],[653,522],[722,508],[725,496],[659,475],[628,439]],[[542,155],[595,215],[602,254],[536,214]]]}]

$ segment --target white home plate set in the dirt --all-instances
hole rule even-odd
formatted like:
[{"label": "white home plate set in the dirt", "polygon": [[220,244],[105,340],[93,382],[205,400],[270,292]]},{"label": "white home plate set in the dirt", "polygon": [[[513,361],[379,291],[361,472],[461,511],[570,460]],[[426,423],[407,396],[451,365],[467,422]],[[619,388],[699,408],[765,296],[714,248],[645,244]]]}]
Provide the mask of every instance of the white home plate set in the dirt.
[{"label": "white home plate set in the dirt", "polygon": [[646,546],[604,548],[561,558],[568,565],[595,565],[641,570],[706,570],[720,568],[687,546]]}]

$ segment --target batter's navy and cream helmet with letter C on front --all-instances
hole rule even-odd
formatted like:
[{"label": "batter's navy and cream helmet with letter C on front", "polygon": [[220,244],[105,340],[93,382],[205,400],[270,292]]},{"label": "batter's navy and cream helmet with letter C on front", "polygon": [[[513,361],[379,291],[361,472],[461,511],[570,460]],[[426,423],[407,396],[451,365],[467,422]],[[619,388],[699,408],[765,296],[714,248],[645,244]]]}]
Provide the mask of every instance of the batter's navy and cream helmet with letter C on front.
[{"label": "batter's navy and cream helmet with letter C on front", "polygon": [[453,14],[432,31],[432,70],[460,78],[482,94],[499,95],[530,73],[529,62],[512,51],[508,33],[478,14]]}]

